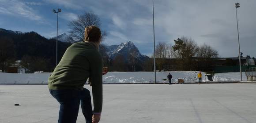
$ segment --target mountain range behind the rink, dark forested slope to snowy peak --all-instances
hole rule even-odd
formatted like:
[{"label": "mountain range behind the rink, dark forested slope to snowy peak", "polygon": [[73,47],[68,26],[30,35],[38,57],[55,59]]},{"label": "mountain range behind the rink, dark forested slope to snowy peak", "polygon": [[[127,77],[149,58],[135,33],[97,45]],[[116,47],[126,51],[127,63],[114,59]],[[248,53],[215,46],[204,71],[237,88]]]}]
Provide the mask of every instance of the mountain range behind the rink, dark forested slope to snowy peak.
[{"label": "mountain range behind the rink, dark forested slope to snowy peak", "polygon": [[[43,59],[47,66],[44,70],[38,68],[42,71],[52,71],[54,69],[56,60],[55,38],[56,37],[47,39],[36,32],[23,33],[0,28],[1,50],[5,53],[14,51],[14,53],[8,53],[12,55],[7,57],[9,59],[21,60],[26,56],[33,58],[33,62],[38,59]],[[77,41],[66,33],[58,36],[58,40],[58,61],[60,61],[66,49]],[[12,48],[7,49],[7,45]],[[112,68],[111,71],[142,71],[144,61],[149,59],[146,55],[140,54],[138,48],[132,41],[111,46],[106,46],[103,43],[99,47],[99,51],[102,54],[104,66]],[[42,66],[39,61],[37,62],[38,66]]]}]

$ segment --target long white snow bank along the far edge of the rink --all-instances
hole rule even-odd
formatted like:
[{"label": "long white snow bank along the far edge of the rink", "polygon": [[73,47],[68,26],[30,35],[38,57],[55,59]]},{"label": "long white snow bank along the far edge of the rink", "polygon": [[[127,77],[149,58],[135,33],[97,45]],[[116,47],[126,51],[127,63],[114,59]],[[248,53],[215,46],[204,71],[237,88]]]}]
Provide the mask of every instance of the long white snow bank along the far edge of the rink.
[{"label": "long white snow bank along the far edge of the rink", "polygon": [[[169,72],[156,72],[158,83],[168,83]],[[197,82],[197,71],[170,72],[173,76],[172,83],[178,79],[184,79],[184,83]],[[246,80],[245,72],[242,73],[243,80]],[[50,73],[4,73],[0,72],[0,84],[46,84]],[[103,83],[154,83],[154,72],[108,72],[103,76]],[[240,72],[216,73],[213,81],[239,81]],[[202,81],[208,81],[205,73],[202,72]]]}]

